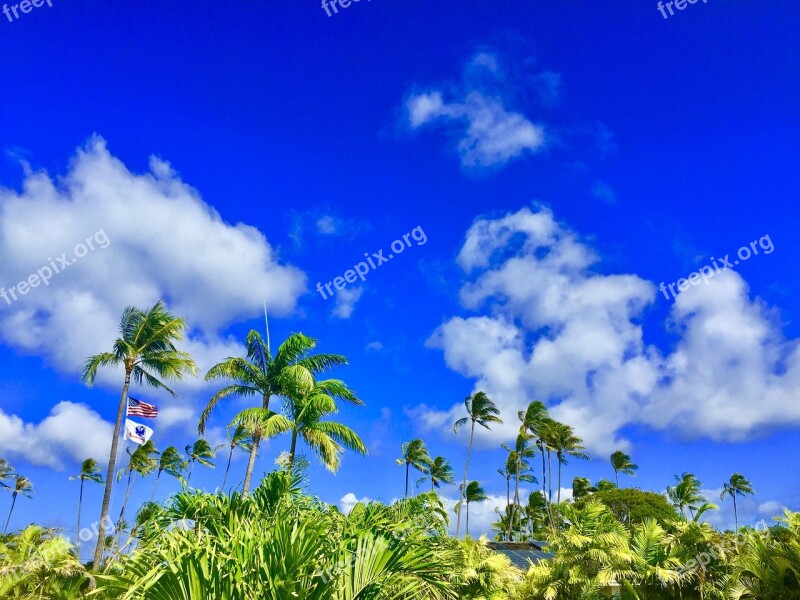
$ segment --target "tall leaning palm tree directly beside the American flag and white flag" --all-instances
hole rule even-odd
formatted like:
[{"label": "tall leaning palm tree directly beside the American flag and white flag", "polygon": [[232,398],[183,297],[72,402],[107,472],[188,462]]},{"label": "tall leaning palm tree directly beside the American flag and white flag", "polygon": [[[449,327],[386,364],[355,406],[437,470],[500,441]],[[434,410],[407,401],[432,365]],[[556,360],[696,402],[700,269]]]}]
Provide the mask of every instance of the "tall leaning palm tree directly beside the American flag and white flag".
[{"label": "tall leaning palm tree directly beside the American flag and white flag", "polygon": [[95,568],[100,567],[100,560],[103,557],[106,522],[111,503],[114,469],[117,464],[119,433],[128,403],[128,388],[133,381],[140,385],[146,384],[154,388],[162,388],[174,396],[175,393],[167,387],[164,380],[180,381],[186,374],[196,374],[197,367],[192,357],[175,347],[175,343],[183,339],[185,330],[186,322],[170,314],[160,300],[147,311],[129,306],[122,313],[119,325],[120,337],[114,341],[113,351],[103,352],[86,359],[83,381],[90,386],[94,385],[97,370],[100,367],[122,365],[125,368],[125,382],[122,386],[117,419],[114,423],[103,505],[100,510],[100,529],[94,551]]}]

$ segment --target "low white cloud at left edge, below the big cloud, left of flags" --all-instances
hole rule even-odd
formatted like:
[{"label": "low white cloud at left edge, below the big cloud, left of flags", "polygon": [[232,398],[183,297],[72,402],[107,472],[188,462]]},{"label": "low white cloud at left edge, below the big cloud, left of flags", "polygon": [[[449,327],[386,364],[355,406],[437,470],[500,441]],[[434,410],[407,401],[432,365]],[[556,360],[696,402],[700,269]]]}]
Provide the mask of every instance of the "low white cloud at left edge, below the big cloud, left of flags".
[{"label": "low white cloud at left edge, below the big cloud, left of flags", "polygon": [[85,404],[62,401],[39,424],[0,410],[0,453],[61,470],[65,462],[107,463],[114,426]]}]

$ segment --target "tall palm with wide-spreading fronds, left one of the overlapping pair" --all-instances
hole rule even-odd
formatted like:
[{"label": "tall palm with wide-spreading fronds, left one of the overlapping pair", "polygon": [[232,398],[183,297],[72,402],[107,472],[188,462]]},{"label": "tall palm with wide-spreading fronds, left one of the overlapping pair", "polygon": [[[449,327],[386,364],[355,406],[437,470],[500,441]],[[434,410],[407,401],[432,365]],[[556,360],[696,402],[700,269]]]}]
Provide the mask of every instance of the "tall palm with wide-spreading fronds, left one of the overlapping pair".
[{"label": "tall palm with wide-spreading fronds, left one of the overlapping pair", "polygon": [[[317,341],[302,333],[291,334],[285,342],[278,347],[278,352],[272,356],[269,344],[269,331],[265,342],[261,334],[255,330],[247,334],[247,356],[245,358],[229,357],[209,369],[206,381],[227,379],[233,381],[219,390],[211,400],[203,414],[200,416],[198,432],[203,435],[205,426],[211,412],[222,400],[232,396],[245,398],[261,398],[261,408],[268,410],[270,398],[275,395],[285,395],[281,377],[284,369],[290,366],[305,367],[312,374],[322,373],[334,367],[347,364],[347,358],[339,354],[310,354],[317,345]],[[247,470],[244,477],[244,491],[250,491],[250,480],[255,467],[260,439],[253,438],[253,447]]]}]

